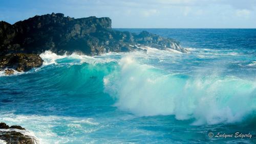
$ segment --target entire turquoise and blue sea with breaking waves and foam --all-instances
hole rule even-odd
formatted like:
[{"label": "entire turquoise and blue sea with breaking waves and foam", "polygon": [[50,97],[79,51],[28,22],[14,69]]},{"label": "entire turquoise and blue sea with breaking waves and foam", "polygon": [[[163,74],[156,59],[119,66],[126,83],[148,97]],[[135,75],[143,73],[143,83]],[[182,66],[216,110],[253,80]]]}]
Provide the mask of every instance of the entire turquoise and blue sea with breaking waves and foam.
[{"label": "entire turquoise and blue sea with breaking waves and foam", "polygon": [[146,30],[189,53],[46,51],[42,67],[1,74],[0,122],[40,143],[255,143],[256,30]]}]

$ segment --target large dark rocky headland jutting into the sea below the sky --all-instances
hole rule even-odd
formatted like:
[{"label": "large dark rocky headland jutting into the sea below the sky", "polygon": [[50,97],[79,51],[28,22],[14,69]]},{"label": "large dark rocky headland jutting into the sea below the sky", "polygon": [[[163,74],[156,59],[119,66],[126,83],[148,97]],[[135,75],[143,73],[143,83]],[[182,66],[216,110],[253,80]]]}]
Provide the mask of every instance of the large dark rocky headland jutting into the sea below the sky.
[{"label": "large dark rocky headland jutting into the sea below the sky", "polygon": [[186,52],[179,42],[143,31],[140,34],[111,29],[108,17],[70,18],[61,13],[34,16],[10,25],[0,22],[0,55],[8,53],[39,54],[51,50],[57,54],[82,52],[98,55],[106,52],[132,51],[145,45],[160,50]]}]

